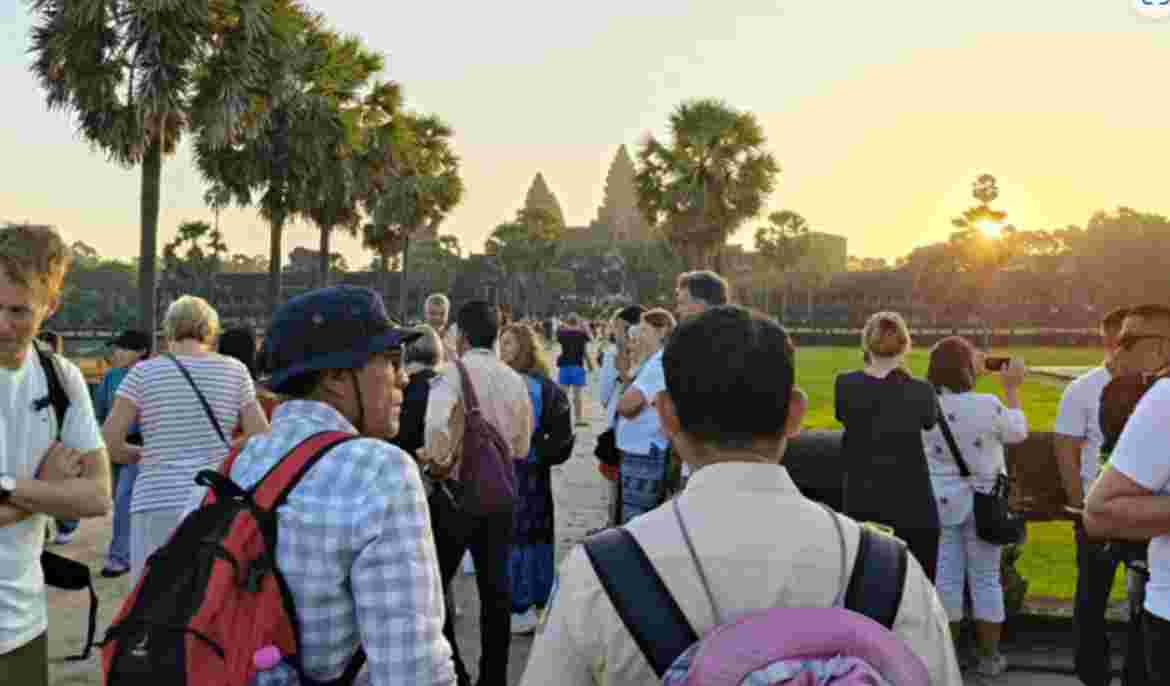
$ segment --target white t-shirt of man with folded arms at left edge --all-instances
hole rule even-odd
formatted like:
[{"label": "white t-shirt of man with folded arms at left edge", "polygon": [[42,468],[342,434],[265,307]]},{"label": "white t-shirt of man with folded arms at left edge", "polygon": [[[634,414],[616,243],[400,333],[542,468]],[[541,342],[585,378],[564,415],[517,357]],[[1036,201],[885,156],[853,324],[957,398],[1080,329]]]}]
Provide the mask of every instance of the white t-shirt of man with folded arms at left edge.
[{"label": "white t-shirt of man with folded arms at left edge", "polygon": [[[61,443],[92,452],[105,447],[94,418],[94,404],[81,370],[57,358],[57,376],[69,395]],[[48,398],[49,387],[40,357],[29,347],[20,369],[0,368],[0,474],[34,479],[49,445],[57,438],[51,406],[34,410]],[[12,652],[43,633],[48,626],[41,550],[46,515],[33,515],[0,527],[0,654]]]}]

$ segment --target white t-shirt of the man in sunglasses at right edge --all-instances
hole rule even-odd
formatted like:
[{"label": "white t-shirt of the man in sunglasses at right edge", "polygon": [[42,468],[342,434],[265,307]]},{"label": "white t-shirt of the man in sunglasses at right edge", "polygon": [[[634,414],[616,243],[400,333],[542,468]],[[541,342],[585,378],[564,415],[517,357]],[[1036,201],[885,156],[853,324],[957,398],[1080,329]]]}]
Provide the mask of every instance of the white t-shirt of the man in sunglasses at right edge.
[{"label": "white t-shirt of the man in sunglasses at right edge", "polygon": [[[1154,384],[1142,397],[1109,464],[1155,495],[1170,495],[1170,379]],[[1170,620],[1170,535],[1150,541],[1145,609]]]}]

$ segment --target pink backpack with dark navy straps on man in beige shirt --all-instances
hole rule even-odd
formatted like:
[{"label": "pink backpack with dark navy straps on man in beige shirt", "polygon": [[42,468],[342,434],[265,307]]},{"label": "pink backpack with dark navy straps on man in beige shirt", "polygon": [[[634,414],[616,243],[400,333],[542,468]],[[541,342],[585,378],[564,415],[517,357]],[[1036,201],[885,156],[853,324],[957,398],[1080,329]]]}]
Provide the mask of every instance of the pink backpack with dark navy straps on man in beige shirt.
[{"label": "pink backpack with dark navy straps on man in beige shirt", "polygon": [[[922,659],[890,627],[906,581],[906,546],[861,528],[853,574],[838,515],[840,591],[831,608],[772,608],[727,618],[707,583],[690,533],[673,501],[717,625],[700,638],[638,541],[624,528],[585,541],[598,578],[666,686],[929,686]],[[653,609],[653,610],[648,610]]]}]

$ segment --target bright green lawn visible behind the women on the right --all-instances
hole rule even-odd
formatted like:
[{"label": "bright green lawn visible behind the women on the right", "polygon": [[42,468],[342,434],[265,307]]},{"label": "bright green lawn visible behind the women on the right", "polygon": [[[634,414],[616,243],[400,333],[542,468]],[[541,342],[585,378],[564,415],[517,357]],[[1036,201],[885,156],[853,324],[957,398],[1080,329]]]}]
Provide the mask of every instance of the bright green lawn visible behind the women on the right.
[{"label": "bright green lawn visible behind the women on the right", "polygon": [[[1028,366],[1092,366],[1101,362],[1101,351],[1078,348],[1004,348],[994,355],[1023,357]],[[910,354],[915,376],[924,377],[928,352]],[[861,366],[861,351],[847,348],[801,348],[797,350],[797,383],[810,399],[807,428],[840,428],[833,417],[833,379],[837,375]],[[1002,396],[999,380],[984,377],[978,390]],[[1020,390],[1024,412],[1032,431],[1052,431],[1064,384],[1030,376]],[[1053,479],[1059,479],[1057,474]],[[1076,586],[1073,528],[1067,522],[1044,522],[1028,526],[1018,569],[1028,579],[1028,596],[1069,599]],[[1114,595],[1122,597],[1123,584],[1114,584]]]}]

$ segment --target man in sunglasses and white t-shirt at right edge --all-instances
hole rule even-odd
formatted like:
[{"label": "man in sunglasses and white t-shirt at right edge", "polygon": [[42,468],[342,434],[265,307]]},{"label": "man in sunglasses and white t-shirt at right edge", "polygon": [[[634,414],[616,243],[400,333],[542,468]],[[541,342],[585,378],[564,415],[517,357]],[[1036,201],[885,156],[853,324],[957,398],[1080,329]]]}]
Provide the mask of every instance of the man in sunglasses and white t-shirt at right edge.
[{"label": "man in sunglasses and white t-shirt at right edge", "polygon": [[[1119,366],[1127,372],[1170,371],[1170,307],[1129,310]],[[1142,397],[1089,492],[1085,527],[1090,535],[1150,541],[1143,629],[1150,684],[1170,684],[1170,379]]]}]

